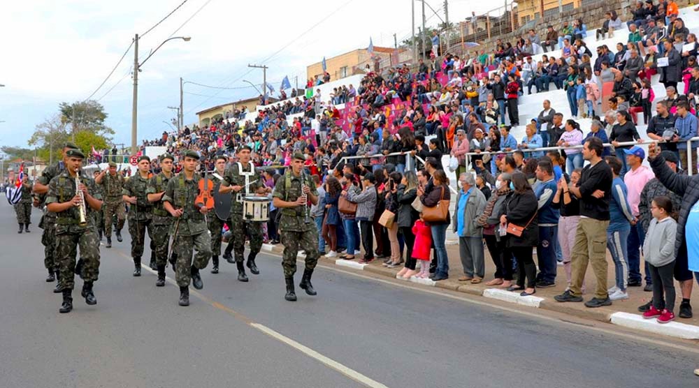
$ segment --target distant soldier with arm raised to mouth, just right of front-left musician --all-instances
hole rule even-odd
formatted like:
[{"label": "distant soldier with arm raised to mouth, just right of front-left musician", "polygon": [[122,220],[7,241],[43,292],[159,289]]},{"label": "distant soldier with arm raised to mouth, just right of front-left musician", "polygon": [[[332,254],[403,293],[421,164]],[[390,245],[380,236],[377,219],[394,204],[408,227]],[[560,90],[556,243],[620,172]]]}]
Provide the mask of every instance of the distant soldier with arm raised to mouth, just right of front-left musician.
[{"label": "distant soldier with arm raised to mouth, just right of front-left musician", "polygon": [[122,177],[122,174],[117,173],[117,163],[109,162],[108,171],[100,172],[94,181],[102,186],[104,194],[104,235],[107,237],[106,248],[111,248],[112,225],[115,215],[117,216],[117,241],[122,242],[122,228],[126,219],[126,209],[122,199],[124,177]]}]

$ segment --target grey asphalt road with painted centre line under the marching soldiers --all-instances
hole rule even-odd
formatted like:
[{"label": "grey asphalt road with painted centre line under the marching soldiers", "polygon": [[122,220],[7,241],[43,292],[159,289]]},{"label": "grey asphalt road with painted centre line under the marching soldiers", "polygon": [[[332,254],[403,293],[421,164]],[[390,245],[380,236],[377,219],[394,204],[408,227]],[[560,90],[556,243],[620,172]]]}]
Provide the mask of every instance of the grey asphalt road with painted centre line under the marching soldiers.
[{"label": "grey asphalt road with painted centre line under the marching soldiers", "polygon": [[61,297],[44,281],[38,216],[30,234],[17,234],[13,210],[0,204],[0,387],[699,385],[696,352],[647,343],[644,334],[616,336],[330,269],[316,271],[317,297],[297,288],[289,303],[281,260],[271,255],[261,255],[250,283],[225,261],[220,274],[204,270],[204,289],[183,308],[173,283],[156,288],[145,270],[131,276],[127,235],[102,246],[98,304],[87,306],[78,290],[73,312],[59,314]]}]

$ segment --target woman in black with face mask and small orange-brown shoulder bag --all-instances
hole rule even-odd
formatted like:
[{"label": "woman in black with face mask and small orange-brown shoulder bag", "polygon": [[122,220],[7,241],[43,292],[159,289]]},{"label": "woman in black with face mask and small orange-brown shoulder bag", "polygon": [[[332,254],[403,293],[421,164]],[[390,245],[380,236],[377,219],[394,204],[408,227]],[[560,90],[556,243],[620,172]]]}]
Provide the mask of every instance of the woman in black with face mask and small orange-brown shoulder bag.
[{"label": "woman in black with face mask and small orange-brown shoulder bag", "polygon": [[505,214],[500,216],[500,227],[507,230],[507,248],[517,260],[519,276],[517,286],[507,291],[523,291],[520,295],[526,297],[536,293],[536,265],[532,253],[539,240],[538,202],[523,173],[512,174],[510,188],[514,192],[505,204]]}]

